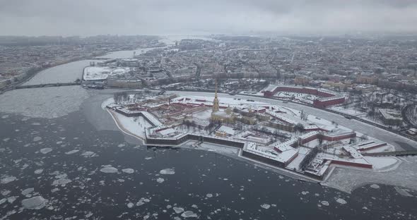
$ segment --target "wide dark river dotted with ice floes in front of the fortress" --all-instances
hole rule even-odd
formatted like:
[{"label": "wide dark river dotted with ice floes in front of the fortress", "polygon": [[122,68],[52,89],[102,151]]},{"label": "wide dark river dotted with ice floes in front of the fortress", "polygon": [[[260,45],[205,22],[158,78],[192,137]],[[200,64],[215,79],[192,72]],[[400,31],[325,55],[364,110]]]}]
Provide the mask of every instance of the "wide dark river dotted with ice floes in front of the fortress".
[{"label": "wide dark river dotted with ice floes in front of the fortress", "polygon": [[0,95],[0,219],[417,219],[406,188],[344,193],[217,152],[147,149],[101,109],[116,91]]}]

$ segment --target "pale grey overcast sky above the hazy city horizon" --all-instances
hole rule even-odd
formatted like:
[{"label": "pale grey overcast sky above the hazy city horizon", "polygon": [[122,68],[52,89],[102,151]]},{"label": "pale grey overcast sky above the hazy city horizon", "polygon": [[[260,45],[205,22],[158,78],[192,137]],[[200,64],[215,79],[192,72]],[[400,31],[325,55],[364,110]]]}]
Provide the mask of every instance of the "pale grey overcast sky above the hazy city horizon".
[{"label": "pale grey overcast sky above the hazy city horizon", "polygon": [[417,32],[417,0],[0,0],[0,35]]}]

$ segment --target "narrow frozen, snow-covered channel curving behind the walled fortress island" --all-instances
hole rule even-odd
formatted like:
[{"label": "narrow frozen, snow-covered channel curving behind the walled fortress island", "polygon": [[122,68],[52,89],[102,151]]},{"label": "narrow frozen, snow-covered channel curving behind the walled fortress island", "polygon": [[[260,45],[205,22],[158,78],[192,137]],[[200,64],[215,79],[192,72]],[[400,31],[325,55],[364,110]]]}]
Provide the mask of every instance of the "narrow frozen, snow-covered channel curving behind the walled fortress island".
[{"label": "narrow frozen, snow-covered channel curving behind the walled fortress island", "polygon": [[[167,91],[168,92],[168,91]],[[182,94],[182,95],[194,95],[194,96],[211,96],[214,97],[214,94],[211,92],[182,92],[182,91],[172,91],[175,94]],[[252,99],[257,102],[266,102],[270,104],[276,104],[279,106],[286,106],[291,109],[296,109],[298,111],[304,110],[305,113],[311,114],[313,116],[317,116],[319,118],[326,119],[327,121],[334,121],[341,126],[349,128],[351,130],[355,130],[358,133],[366,134],[372,138],[376,138],[378,140],[382,140],[383,142],[387,142],[390,145],[393,145],[396,150],[413,150],[417,149],[417,142],[410,140],[408,138],[404,138],[401,135],[397,135],[391,133],[387,130],[377,128],[374,126],[370,126],[367,123],[363,123],[360,121],[352,120],[345,118],[339,114],[333,114],[328,111],[323,111],[321,109],[316,109],[310,106],[305,106],[302,104],[295,104],[295,103],[283,103],[280,100],[275,99],[266,99],[263,97],[248,97],[245,95],[237,94],[235,96],[229,94],[218,94],[218,97],[231,97],[231,98],[242,98],[242,99]]]}]

